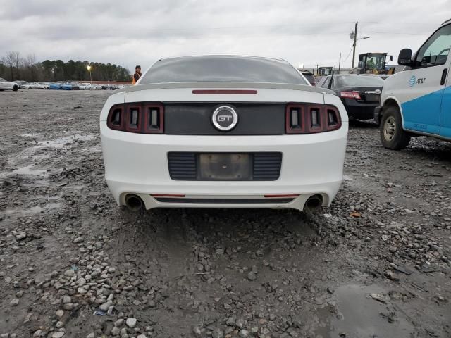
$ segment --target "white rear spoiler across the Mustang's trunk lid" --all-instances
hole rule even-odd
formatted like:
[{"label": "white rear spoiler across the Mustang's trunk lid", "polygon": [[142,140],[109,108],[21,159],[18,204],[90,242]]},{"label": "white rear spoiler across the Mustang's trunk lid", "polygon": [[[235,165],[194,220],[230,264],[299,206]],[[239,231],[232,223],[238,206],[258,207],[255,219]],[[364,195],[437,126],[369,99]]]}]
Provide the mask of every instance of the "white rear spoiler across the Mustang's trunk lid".
[{"label": "white rear spoiler across the Mustang's trunk lid", "polygon": [[289,89],[302,92],[314,92],[319,94],[335,94],[332,90],[313,87],[307,84],[270,83],[270,82],[166,82],[137,84],[135,86],[116,89],[112,94],[138,92],[148,89],[179,89],[179,88],[240,88],[240,89]]}]

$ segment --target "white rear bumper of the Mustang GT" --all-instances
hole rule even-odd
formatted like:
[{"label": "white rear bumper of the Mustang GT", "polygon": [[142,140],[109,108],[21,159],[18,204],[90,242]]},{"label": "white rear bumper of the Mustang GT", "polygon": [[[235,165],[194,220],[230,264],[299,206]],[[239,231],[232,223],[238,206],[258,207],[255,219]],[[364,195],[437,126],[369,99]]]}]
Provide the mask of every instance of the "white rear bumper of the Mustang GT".
[{"label": "white rear bumper of the Mustang GT", "polygon": [[[340,130],[319,134],[194,136],[118,132],[108,129],[103,121],[101,142],[106,182],[119,205],[125,204],[125,195],[132,193],[141,197],[147,209],[184,207],[302,210],[305,201],[314,194],[321,194],[323,206],[329,206],[340,189],[347,122],[343,122]],[[168,171],[168,152],[171,151],[276,151],[281,152],[283,158],[280,177],[276,181],[175,181],[171,180]],[[162,201],[161,198],[152,196],[155,194],[177,194],[184,197],[176,201]],[[277,194],[298,196],[292,197],[290,201],[269,201],[272,197],[265,197]]]}]

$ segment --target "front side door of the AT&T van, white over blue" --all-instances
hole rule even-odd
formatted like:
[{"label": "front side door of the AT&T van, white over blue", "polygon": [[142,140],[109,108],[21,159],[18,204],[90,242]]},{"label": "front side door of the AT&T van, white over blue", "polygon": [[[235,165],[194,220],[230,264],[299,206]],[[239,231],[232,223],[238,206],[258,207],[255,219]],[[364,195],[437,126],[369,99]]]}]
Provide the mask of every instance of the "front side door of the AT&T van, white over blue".
[{"label": "front side door of the AT&T van, white over blue", "polygon": [[440,27],[421,46],[412,61],[405,100],[401,104],[404,129],[440,133],[440,113],[451,46],[451,24]]}]

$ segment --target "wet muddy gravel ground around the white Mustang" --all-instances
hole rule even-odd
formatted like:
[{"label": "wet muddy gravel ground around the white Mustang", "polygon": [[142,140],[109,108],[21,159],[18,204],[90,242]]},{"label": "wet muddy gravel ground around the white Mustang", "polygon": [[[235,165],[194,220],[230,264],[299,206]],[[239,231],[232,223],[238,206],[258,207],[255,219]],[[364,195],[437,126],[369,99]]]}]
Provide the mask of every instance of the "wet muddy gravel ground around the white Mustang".
[{"label": "wet muddy gravel ground around the white Mustang", "polygon": [[321,213],[130,213],[108,95],[0,92],[0,337],[451,337],[451,144],[354,123]]}]

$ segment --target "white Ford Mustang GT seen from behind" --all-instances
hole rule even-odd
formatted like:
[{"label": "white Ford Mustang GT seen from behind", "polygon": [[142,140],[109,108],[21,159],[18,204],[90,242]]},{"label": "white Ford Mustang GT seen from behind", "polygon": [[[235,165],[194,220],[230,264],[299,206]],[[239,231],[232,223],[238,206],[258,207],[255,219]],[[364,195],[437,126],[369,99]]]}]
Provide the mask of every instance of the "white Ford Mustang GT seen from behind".
[{"label": "white Ford Mustang GT seen from behind", "polygon": [[106,182],[132,210],[329,206],[347,129],[333,92],[249,56],[161,59],[100,115]]}]

